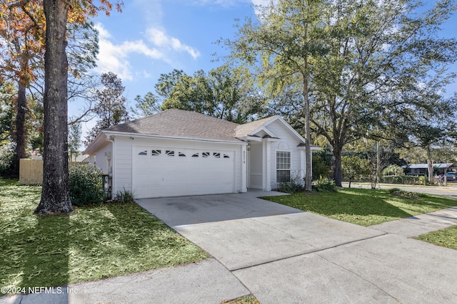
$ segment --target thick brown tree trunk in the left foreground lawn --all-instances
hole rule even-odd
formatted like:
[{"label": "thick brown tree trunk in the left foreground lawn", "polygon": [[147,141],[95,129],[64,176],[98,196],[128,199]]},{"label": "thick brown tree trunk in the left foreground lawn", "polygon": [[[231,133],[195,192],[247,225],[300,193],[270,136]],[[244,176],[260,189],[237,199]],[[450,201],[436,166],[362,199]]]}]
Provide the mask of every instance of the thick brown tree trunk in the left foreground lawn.
[{"label": "thick brown tree trunk in the left foreground lawn", "polygon": [[44,167],[41,201],[35,213],[73,211],[69,195],[67,138],[66,21],[69,1],[44,0]]}]

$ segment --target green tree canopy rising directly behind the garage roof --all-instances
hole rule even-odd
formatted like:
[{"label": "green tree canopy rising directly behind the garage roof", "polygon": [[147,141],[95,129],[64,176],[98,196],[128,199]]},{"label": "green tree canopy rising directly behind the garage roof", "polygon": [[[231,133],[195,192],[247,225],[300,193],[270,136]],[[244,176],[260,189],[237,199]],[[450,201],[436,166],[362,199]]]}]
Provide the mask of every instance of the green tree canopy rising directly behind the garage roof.
[{"label": "green tree canopy rising directly behind the garage roof", "polygon": [[206,73],[190,76],[182,70],[162,74],[155,85],[156,95],[136,97],[136,112],[151,115],[176,108],[201,112],[231,122],[248,122],[266,113],[265,98],[252,85],[251,74],[243,68],[221,65]]}]

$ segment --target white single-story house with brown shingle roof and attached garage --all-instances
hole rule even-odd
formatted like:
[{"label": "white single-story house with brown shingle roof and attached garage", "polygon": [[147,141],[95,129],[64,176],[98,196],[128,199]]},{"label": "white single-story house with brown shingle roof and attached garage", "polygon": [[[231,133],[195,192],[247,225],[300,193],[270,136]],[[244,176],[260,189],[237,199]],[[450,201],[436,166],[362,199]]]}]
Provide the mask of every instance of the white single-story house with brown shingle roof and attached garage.
[{"label": "white single-story house with brown shingle roof and attached garage", "polygon": [[84,154],[113,194],[139,199],[269,191],[304,177],[307,161],[305,140],[279,116],[238,125],[176,109],[102,130]]}]

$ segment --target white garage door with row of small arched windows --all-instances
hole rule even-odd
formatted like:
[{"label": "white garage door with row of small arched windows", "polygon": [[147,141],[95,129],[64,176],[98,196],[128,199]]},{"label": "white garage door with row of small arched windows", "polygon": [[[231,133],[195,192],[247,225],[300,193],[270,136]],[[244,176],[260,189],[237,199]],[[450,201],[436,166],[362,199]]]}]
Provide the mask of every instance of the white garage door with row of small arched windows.
[{"label": "white garage door with row of small arched windows", "polygon": [[234,192],[235,152],[134,147],[132,182],[139,199]]}]

